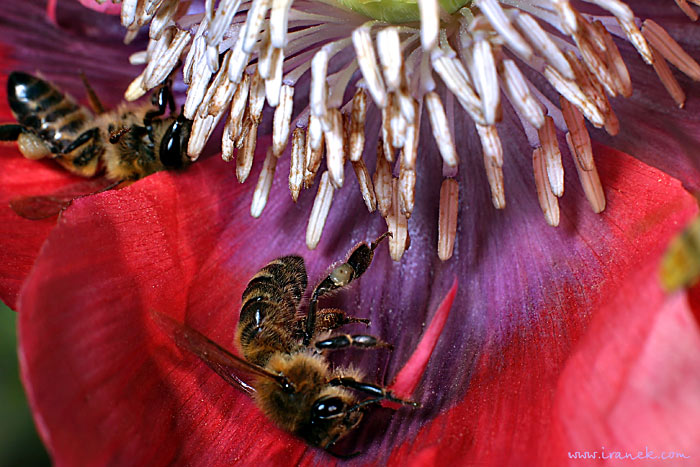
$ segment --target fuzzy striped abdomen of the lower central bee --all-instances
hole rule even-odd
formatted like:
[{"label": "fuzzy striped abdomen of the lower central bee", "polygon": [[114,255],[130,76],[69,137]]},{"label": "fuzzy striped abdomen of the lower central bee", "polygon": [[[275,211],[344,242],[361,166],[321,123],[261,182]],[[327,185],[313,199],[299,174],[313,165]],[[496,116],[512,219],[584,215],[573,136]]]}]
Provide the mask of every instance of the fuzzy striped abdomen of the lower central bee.
[{"label": "fuzzy striped abdomen of the lower central bee", "polygon": [[237,332],[248,360],[264,366],[274,352],[292,350],[295,315],[306,285],[299,256],[276,259],[253,276],[243,292]]}]

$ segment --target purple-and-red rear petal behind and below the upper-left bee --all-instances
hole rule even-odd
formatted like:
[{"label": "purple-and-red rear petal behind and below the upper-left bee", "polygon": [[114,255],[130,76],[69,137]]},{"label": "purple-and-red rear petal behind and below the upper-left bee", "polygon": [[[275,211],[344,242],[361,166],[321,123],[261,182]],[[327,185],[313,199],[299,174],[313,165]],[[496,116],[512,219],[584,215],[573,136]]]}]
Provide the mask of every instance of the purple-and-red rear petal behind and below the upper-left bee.
[{"label": "purple-and-red rear petal behind and below the upper-left bee", "polygon": [[[106,2],[105,5],[112,5]],[[121,44],[119,19],[104,17],[63,0],[58,6],[61,27],[46,22],[44,1],[5,1],[0,19],[0,89],[16,69],[40,72],[62,91],[79,100],[85,96],[78,70],[88,75],[106,105],[116,105],[136,74]],[[41,31],[41,34],[37,34]],[[14,123],[7,99],[0,98],[0,124]],[[0,143],[0,299],[16,307],[17,295],[32,264],[56,224],[56,217],[30,221],[10,209],[10,202],[29,196],[61,194],[74,197],[96,191],[103,183],[68,174],[51,161],[30,161],[14,143]]]}]

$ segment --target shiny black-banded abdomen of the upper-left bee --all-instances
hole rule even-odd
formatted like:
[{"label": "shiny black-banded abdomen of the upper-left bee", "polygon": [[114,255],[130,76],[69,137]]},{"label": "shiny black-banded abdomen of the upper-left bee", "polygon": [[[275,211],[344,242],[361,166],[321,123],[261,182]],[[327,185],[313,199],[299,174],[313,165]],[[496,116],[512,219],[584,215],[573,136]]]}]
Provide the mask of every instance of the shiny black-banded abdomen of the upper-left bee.
[{"label": "shiny black-banded abdomen of the upper-left bee", "polygon": [[89,115],[46,81],[21,71],[7,80],[7,100],[17,122],[58,153],[78,136]]}]

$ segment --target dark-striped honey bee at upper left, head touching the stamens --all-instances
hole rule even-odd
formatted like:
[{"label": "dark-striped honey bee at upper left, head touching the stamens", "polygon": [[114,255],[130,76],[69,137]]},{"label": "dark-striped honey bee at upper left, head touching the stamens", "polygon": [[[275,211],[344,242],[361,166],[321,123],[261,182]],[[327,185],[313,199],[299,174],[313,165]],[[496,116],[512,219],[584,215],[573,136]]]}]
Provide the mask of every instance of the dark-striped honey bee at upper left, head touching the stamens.
[{"label": "dark-striped honey bee at upper left, head touching the stamens", "polygon": [[[12,72],[7,100],[17,123],[0,125],[0,141],[17,141],[24,157],[49,157],[82,177],[104,173],[111,182],[106,188],[189,164],[186,148],[192,122],[182,114],[172,115],[170,79],[153,94],[152,104],[122,104],[105,111],[81,76],[95,116],[49,82]],[[171,115],[165,117],[167,107]]]}]

